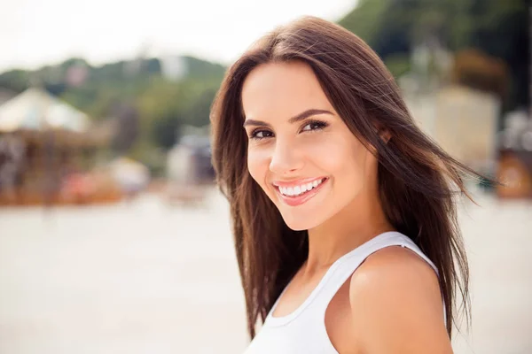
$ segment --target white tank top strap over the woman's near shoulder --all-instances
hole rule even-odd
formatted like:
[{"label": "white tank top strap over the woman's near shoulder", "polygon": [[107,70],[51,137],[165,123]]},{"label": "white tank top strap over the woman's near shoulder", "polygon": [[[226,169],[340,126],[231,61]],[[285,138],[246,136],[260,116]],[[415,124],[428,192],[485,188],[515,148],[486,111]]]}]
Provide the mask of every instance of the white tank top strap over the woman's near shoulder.
[{"label": "white tank top strap over the woman's near shoulder", "polygon": [[332,297],[336,295],[340,287],[348,281],[351,274],[356,271],[358,266],[360,266],[366,258],[371,256],[374,252],[390,246],[402,246],[412,250],[418,254],[420,258],[423,258],[436,273],[438,273],[433,262],[427,258],[421,250],[419,250],[416,243],[411,241],[408,236],[395,231],[380,234],[338,259],[338,266],[330,274],[324,289],[322,289],[321,293],[315,300],[317,303],[315,305],[319,311],[323,312],[325,315],[325,311],[330,304]]}]

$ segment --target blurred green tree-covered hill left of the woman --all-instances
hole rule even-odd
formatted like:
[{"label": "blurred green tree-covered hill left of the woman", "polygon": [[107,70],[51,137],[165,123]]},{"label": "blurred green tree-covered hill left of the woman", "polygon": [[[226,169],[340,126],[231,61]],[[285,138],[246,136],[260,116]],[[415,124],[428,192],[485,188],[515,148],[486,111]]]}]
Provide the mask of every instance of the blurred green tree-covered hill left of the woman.
[{"label": "blurred green tree-covered hill left of the woman", "polygon": [[[198,58],[181,60],[186,71],[179,81],[168,81],[162,76],[157,58],[119,61],[99,67],[72,58],[34,72],[2,73],[0,87],[19,93],[37,78],[52,94],[88,113],[97,123],[116,119],[113,108],[117,104],[134,102],[140,132],[131,153],[146,158],[141,150],[170,148],[184,124],[201,127],[209,122],[210,105],[225,68]],[[87,79],[79,87],[68,85],[68,70],[73,65],[87,69]]]}]

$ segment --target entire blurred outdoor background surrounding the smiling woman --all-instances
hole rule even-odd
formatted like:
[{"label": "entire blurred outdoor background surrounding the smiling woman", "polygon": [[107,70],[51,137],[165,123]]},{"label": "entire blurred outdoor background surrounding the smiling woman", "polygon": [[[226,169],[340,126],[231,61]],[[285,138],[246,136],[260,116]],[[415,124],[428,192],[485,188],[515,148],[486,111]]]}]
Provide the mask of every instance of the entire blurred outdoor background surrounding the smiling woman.
[{"label": "entire blurred outdoor background surrounding the smiling woman", "polygon": [[231,62],[316,15],[368,42],[419,125],[505,188],[459,201],[473,326],[532,353],[532,12],[525,0],[2,0],[0,353],[238,353],[243,293],[213,184]]}]

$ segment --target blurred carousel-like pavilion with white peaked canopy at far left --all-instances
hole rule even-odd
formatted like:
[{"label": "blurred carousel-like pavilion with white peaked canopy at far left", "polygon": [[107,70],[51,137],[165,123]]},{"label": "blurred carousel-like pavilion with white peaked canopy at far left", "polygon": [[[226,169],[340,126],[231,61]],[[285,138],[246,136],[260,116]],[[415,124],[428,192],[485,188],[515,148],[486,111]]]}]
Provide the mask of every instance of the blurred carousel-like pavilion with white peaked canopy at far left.
[{"label": "blurred carousel-like pavilion with white peaked canopy at far left", "polygon": [[0,205],[117,200],[111,180],[87,173],[108,138],[44,89],[7,100],[0,105]]}]

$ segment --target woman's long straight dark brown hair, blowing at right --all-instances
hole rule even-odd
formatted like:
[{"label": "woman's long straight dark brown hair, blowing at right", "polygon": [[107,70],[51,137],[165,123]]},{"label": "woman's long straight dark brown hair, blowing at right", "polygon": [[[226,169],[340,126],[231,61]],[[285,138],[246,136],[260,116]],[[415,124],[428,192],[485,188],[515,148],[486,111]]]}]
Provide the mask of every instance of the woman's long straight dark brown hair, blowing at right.
[{"label": "woman's long straight dark brown hair, blowing at right", "polygon": [[[458,293],[469,319],[469,270],[454,197],[473,174],[414,123],[377,54],[359,37],[323,19],[306,17],[256,42],[228,69],[211,112],[213,165],[231,204],[232,228],[246,297],[247,329],[266,319],[281,291],[308,257],[307,231],[286,226],[247,171],[241,91],[257,65],[300,60],[354,135],[376,150],[379,196],[395,229],[411,237],[438,268],[450,335]],[[391,135],[387,143],[375,127]],[[468,195],[467,195],[468,196]],[[460,281],[461,279],[461,281]]]}]

